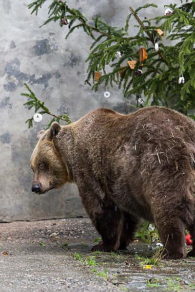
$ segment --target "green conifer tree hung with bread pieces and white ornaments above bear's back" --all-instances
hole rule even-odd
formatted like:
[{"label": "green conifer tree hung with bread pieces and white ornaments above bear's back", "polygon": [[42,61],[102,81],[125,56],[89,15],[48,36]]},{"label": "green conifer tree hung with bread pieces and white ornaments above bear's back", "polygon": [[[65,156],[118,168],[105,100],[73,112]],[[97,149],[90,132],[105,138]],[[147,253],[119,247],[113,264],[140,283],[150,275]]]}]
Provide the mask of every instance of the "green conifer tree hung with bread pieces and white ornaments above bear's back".
[{"label": "green conifer tree hung with bread pieces and white ornaments above bear's back", "polygon": [[[85,80],[92,90],[97,91],[102,83],[111,86],[115,83],[125,97],[135,94],[140,107],[166,106],[195,119],[195,1],[180,1],[180,6],[166,5],[169,10],[166,15],[162,11],[161,16],[152,19],[141,19],[139,12],[157,7],[156,4],[129,7],[124,27],[117,29],[100,16],[94,18],[92,24],[66,1],[52,0],[48,18],[42,25],[59,21],[60,26],[69,27],[66,38],[75,29],[83,29],[92,38]],[[48,0],[32,2],[31,14],[37,15],[45,2]],[[135,36],[129,35],[131,18],[137,20]],[[163,44],[163,38],[169,40],[169,45]]]}]

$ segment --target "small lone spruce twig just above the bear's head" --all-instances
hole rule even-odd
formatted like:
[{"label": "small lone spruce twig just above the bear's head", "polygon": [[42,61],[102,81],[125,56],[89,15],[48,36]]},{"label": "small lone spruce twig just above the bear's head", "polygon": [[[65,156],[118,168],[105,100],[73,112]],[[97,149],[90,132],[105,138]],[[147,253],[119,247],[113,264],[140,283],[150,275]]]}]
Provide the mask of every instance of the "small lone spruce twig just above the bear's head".
[{"label": "small lone spruce twig just above the bear's head", "polygon": [[[64,121],[67,124],[71,123],[71,120],[67,114],[62,115],[56,115],[53,112],[51,112],[46,106],[44,102],[41,102],[35,95],[35,93],[32,91],[32,89],[28,86],[28,84],[24,83],[25,88],[29,93],[21,93],[20,95],[28,97],[28,101],[24,103],[24,106],[27,106],[28,110],[31,110],[32,108],[35,109],[35,113],[38,112],[40,114],[48,114],[53,117],[53,119],[48,124],[47,128],[51,125],[52,122],[57,121]],[[28,119],[26,122],[28,124],[28,128],[33,127],[33,117]]]}]

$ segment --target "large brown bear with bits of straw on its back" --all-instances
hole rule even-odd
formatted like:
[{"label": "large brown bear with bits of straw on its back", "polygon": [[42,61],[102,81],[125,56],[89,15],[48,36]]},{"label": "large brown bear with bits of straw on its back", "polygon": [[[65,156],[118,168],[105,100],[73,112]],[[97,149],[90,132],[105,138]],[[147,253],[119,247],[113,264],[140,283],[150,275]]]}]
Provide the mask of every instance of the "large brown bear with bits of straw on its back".
[{"label": "large brown bear with bits of straw on its back", "polygon": [[124,115],[97,109],[67,126],[38,133],[32,191],[77,183],[102,242],[125,249],[140,219],[156,225],[168,258],[195,256],[195,122],[164,107]]}]

